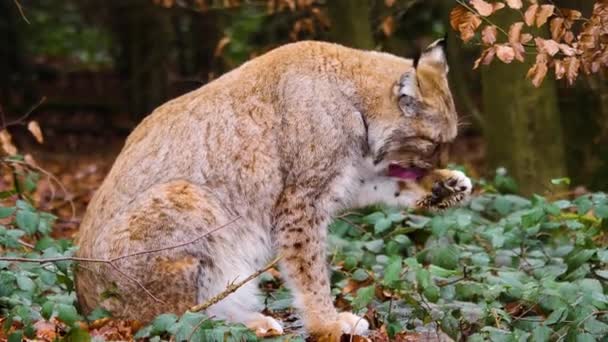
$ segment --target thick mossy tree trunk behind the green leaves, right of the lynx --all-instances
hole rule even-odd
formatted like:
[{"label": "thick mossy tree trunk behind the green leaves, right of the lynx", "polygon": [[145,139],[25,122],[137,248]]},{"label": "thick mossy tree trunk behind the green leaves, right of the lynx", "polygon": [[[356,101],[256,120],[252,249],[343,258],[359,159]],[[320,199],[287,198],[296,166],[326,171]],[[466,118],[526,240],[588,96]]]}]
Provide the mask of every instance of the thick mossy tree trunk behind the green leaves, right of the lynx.
[{"label": "thick mossy tree trunk behind the green leaves, right of the lynx", "polygon": [[[509,12],[493,20],[501,27],[521,20]],[[552,178],[567,175],[555,82],[549,75],[535,88],[526,78],[533,63],[527,55],[523,64],[496,60],[482,69],[489,164],[506,167],[524,194],[543,193]]]}]

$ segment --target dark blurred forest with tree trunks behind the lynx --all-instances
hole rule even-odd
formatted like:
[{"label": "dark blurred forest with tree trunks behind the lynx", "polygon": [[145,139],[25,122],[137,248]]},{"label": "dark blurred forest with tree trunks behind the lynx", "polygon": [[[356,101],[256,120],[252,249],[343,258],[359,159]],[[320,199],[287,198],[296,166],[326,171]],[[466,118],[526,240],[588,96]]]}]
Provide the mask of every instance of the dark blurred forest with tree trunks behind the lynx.
[{"label": "dark blurred forest with tree trunks behind the lynx", "polygon": [[[588,17],[592,1],[559,0]],[[452,157],[474,176],[504,166],[523,193],[549,179],[608,189],[608,83],[526,79],[531,61],[472,70],[479,40],[450,28],[453,0],[21,0],[0,2],[0,105],[10,122],[32,106],[46,144],[15,137],[45,159],[100,155],[111,163],[155,107],[265,51],[326,40],[412,57],[447,34],[461,121]],[[499,17],[505,27],[513,22]],[[547,29],[548,31],[548,29]],[[532,60],[532,58],[530,58]],[[18,130],[17,130],[18,131]],[[15,134],[15,133],[13,133]],[[36,152],[37,151],[37,152]],[[59,154],[59,155],[58,155]],[[102,160],[104,160],[102,158]],[[65,164],[65,163],[64,163]]]}]

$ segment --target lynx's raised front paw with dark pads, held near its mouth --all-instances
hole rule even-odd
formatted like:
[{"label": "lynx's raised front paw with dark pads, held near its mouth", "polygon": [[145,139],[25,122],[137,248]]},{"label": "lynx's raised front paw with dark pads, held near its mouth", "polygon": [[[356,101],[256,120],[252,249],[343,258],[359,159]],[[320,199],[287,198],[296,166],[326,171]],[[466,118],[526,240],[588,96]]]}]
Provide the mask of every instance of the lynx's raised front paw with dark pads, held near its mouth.
[{"label": "lynx's raised front paw with dark pads, held near its mouth", "polygon": [[418,202],[418,206],[430,209],[446,209],[464,202],[471,194],[473,185],[469,177],[457,170],[440,170],[441,179],[433,183],[431,194]]}]

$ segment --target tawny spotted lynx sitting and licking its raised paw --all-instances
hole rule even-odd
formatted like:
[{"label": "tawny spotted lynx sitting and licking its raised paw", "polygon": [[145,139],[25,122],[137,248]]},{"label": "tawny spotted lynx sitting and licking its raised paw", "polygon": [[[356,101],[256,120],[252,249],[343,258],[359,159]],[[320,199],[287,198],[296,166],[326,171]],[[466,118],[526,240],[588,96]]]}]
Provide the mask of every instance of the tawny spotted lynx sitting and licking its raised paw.
[{"label": "tawny spotted lynx sitting and licking its raised paw", "polygon": [[[444,208],[471,192],[436,169],[456,137],[442,44],[417,63],[322,42],[285,45],[148,116],[128,137],[81,225],[79,257],[181,248],[76,270],[79,302],[150,320],[183,313],[280,255],[307,331],[337,339],[368,322],[332,303],[327,225],[373,203]],[[282,332],[250,282],[207,313]],[[108,295],[111,293],[111,295]]]}]

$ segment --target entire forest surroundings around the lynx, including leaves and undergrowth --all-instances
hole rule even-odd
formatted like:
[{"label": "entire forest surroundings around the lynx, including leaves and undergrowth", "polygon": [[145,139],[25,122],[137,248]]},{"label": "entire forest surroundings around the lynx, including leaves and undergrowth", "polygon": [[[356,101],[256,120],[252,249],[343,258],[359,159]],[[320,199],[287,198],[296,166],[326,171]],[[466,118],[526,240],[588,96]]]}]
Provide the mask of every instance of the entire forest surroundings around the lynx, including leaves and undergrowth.
[{"label": "entire forest surroundings around the lynx, including leaves and undergrowth", "polygon": [[[440,213],[337,217],[336,306],[365,313],[373,341],[439,339],[438,327],[458,341],[605,341],[608,0],[488,1],[0,0],[0,341],[255,341],[197,312],[144,328],[79,313],[71,240],[125,138],[289,42],[414,57],[446,35],[463,123],[451,162],[475,195]],[[304,341],[271,271],[265,309]]]}]

